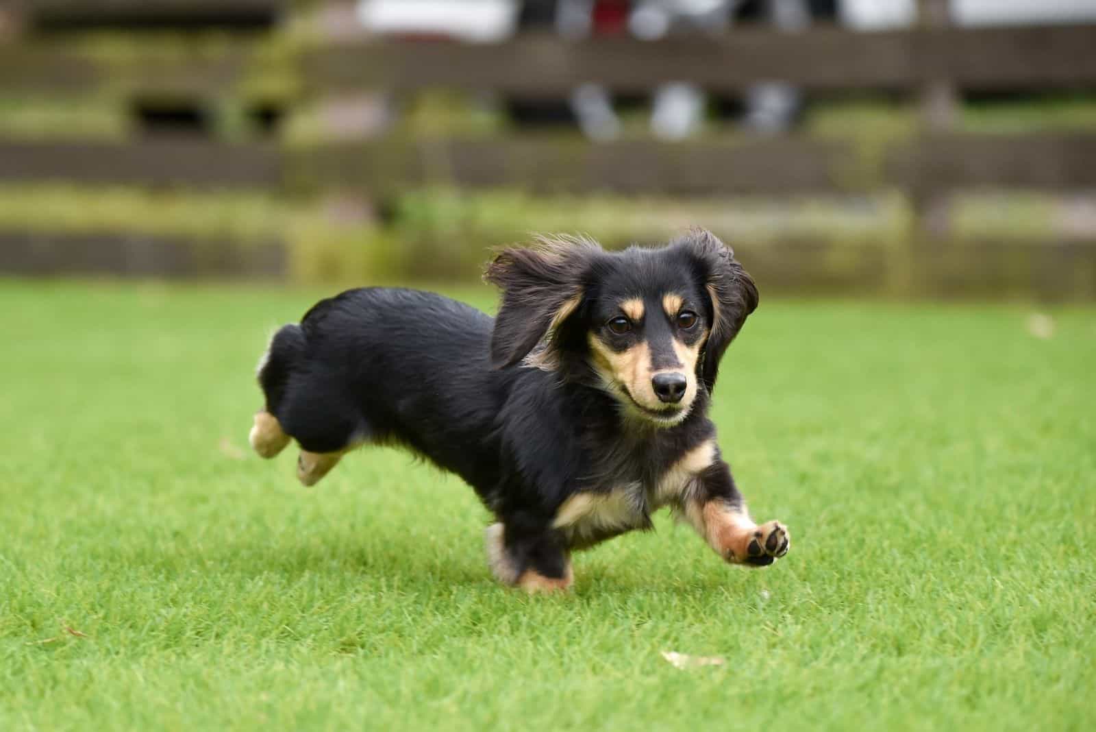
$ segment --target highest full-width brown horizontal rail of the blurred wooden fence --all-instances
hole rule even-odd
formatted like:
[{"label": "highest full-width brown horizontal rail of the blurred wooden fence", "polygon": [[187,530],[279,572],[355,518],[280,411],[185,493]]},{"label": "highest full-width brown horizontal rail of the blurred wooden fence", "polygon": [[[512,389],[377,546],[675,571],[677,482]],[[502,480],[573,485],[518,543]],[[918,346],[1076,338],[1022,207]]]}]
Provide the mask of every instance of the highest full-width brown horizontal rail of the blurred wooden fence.
[{"label": "highest full-width brown horizontal rail of the blurred wooden fence", "polygon": [[[1096,85],[1094,49],[1096,24],[877,33],[743,28],[719,38],[657,42],[568,42],[545,35],[498,44],[332,41],[296,52],[288,68],[277,72],[294,77],[311,94],[438,87],[544,96],[585,82],[646,92],[682,80],[717,92],[766,80],[844,91],[909,90],[940,79],[980,90],[1046,90]],[[0,90],[87,92],[113,84],[216,91],[261,72],[265,59],[240,43],[173,56],[148,49],[123,60],[56,45],[0,45]]]}]

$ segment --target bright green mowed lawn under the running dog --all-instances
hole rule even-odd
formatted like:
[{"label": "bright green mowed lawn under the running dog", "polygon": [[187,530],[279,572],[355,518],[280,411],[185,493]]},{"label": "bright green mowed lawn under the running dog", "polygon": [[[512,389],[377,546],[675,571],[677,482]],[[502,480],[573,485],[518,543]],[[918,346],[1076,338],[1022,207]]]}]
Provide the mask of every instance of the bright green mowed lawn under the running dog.
[{"label": "bright green mowed lawn under the running dog", "polygon": [[248,450],[320,295],[0,282],[0,729],[1096,725],[1096,310],[763,291],[715,416],[790,553],[660,516],[526,597],[459,480]]}]

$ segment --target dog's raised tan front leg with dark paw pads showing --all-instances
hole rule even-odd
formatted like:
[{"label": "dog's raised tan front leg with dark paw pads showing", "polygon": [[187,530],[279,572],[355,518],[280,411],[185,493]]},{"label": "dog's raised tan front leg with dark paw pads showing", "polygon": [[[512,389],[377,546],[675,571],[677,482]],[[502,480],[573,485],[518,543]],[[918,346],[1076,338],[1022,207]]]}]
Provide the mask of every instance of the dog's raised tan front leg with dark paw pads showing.
[{"label": "dog's raised tan front leg with dark paw pads showing", "polygon": [[720,557],[733,564],[767,567],[788,553],[791,536],[775,521],[758,526],[734,485],[731,469],[716,460],[697,474],[681,513]]}]

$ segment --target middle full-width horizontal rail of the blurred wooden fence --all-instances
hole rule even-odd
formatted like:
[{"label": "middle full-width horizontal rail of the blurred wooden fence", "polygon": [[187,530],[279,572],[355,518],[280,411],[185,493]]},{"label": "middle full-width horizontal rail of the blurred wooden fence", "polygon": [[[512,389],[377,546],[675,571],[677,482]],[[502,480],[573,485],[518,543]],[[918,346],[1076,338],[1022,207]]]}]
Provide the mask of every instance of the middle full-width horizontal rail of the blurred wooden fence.
[{"label": "middle full-width horizontal rail of the blurred wooden fence", "polygon": [[534,192],[840,194],[959,188],[1096,188],[1096,135],[924,135],[882,147],[855,140],[625,140],[541,135],[384,138],[282,148],[201,139],[0,141],[0,181],[317,191],[376,195],[415,185]]}]

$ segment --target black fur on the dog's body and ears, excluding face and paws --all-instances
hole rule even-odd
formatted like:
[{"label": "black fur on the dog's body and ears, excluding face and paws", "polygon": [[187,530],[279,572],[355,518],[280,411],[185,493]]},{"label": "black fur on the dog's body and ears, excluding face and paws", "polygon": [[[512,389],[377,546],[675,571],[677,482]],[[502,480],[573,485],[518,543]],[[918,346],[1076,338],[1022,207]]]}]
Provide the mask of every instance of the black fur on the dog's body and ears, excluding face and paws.
[{"label": "black fur on the dog's body and ears, excluding face and paws", "polygon": [[[719,361],[757,305],[753,281],[703,230],[658,249],[609,253],[583,241],[507,250],[486,278],[502,290],[496,319],[411,289],[354,289],[316,305],[274,336],[259,380],[266,411],[311,453],[399,444],[459,474],[505,526],[515,573],[566,571],[566,552],[607,538],[551,527],[579,491],[652,485],[715,435],[709,396]],[[637,425],[590,366],[586,333],[621,293],[688,288],[710,336],[703,385],[681,423]],[[548,364],[530,367],[530,359]],[[741,502],[726,464],[706,488]],[[639,500],[642,500],[640,497]],[[642,519],[628,528],[646,528]],[[772,560],[769,560],[772,561]]]}]

